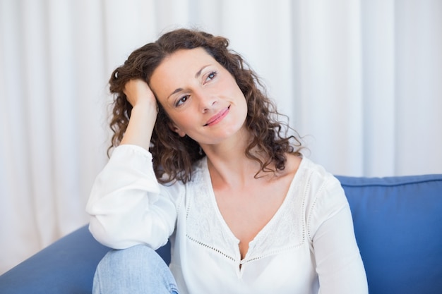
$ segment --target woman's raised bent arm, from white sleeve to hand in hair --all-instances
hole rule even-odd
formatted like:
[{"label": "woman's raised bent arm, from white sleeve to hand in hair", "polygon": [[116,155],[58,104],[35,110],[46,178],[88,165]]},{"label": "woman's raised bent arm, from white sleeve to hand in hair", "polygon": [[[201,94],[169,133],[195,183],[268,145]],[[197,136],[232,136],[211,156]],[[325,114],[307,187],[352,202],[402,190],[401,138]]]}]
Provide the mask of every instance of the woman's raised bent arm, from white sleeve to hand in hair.
[{"label": "woman's raised bent arm, from white sleeve to hand in hair", "polygon": [[[102,244],[123,249],[145,244],[157,249],[174,231],[179,185],[157,183],[148,152],[157,102],[148,84],[131,80],[124,90],[133,105],[121,145],[95,179],[86,211],[90,231]],[[173,197],[171,196],[173,195]]]}]

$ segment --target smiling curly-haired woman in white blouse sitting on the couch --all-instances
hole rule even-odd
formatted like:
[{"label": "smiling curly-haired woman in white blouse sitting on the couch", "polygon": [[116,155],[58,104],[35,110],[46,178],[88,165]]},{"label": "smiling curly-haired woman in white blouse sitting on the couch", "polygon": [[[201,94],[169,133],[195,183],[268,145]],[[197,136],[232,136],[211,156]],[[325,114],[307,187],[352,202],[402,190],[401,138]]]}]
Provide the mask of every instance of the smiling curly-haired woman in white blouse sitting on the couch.
[{"label": "smiling curly-haired woman in white blouse sitting on the couch", "polygon": [[[228,41],[174,30],[112,73],[112,157],[87,211],[117,250],[95,293],[367,293],[340,183]],[[156,255],[167,240],[172,262]]]}]

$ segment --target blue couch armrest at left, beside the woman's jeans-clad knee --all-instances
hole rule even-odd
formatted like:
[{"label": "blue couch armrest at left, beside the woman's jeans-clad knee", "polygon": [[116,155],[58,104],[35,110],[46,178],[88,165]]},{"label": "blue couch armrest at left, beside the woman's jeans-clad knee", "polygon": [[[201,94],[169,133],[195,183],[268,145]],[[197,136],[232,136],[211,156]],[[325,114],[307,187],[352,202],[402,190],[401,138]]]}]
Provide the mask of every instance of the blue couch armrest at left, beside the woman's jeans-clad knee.
[{"label": "blue couch armrest at left, beside the woman's jeans-clad knee", "polygon": [[91,293],[95,268],[107,251],[83,226],[1,275],[0,293]]}]

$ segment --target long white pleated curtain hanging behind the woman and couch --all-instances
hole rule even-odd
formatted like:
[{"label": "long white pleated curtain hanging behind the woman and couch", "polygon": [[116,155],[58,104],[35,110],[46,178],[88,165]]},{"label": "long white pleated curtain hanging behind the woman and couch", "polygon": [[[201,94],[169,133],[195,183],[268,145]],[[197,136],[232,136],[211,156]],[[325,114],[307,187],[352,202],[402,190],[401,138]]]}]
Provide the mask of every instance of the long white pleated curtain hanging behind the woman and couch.
[{"label": "long white pleated curtain hanging behind the woman and couch", "polygon": [[442,173],[440,0],[0,0],[0,273],[88,222],[109,75],[176,27],[228,37],[332,173]]}]

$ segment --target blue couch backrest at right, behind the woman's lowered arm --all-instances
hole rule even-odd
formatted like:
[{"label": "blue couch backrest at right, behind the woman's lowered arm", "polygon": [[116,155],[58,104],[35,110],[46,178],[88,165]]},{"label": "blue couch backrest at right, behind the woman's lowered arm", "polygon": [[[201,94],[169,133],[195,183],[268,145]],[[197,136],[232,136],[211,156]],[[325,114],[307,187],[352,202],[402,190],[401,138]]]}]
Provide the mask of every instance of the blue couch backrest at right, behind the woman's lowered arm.
[{"label": "blue couch backrest at right, behind the woman's lowered arm", "polygon": [[338,178],[369,293],[442,293],[442,175]]}]

